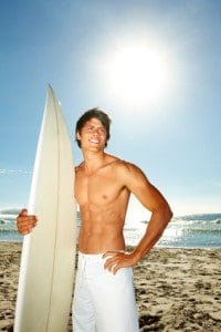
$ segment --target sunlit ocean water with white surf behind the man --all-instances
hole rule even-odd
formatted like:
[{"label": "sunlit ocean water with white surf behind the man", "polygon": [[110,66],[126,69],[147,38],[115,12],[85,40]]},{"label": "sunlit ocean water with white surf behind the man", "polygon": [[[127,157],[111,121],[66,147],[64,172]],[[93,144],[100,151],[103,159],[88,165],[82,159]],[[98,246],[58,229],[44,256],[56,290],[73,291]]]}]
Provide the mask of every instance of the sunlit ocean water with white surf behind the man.
[{"label": "sunlit ocean water with white surf behind the man", "polygon": [[[22,241],[17,231],[15,217],[20,209],[0,209],[0,241]],[[77,212],[77,224],[81,217]],[[126,222],[126,243],[136,246],[147,221]],[[173,217],[156,245],[167,248],[221,248],[221,214],[203,214]]]}]

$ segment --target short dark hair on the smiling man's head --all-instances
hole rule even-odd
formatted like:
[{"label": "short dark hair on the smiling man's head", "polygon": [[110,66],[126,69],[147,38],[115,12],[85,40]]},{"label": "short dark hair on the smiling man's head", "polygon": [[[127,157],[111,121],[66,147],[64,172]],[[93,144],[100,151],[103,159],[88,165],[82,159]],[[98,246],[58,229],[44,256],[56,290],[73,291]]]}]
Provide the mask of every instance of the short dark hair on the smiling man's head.
[{"label": "short dark hair on the smiling man's head", "polygon": [[[109,134],[109,126],[110,126],[110,118],[109,116],[101,111],[98,107],[95,107],[95,108],[91,108],[88,111],[86,111],[80,118],[78,121],[76,122],[76,127],[75,127],[75,137],[76,137],[76,134],[77,132],[81,133],[83,126],[85,125],[85,123],[87,121],[90,121],[91,118],[97,118],[101,121],[101,123],[103,124],[103,126],[105,127],[105,131],[106,131],[106,143],[105,143],[105,147],[107,146],[107,142],[110,137],[110,134]],[[76,138],[76,143],[78,145],[78,147],[81,147],[81,141]]]}]

